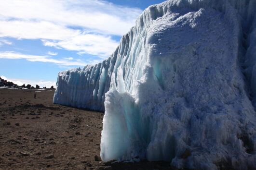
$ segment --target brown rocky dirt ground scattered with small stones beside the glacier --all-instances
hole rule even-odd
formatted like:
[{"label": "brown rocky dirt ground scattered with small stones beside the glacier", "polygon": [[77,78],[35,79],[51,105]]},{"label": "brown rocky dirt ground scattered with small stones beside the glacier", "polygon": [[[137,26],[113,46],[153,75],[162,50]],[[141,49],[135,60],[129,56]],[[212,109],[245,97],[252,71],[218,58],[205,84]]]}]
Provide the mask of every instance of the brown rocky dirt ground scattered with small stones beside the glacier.
[{"label": "brown rocky dirt ground scattered with small stones beside the glacier", "polygon": [[104,113],[53,104],[53,96],[50,89],[0,89],[0,170],[171,169],[170,162],[102,162]]}]

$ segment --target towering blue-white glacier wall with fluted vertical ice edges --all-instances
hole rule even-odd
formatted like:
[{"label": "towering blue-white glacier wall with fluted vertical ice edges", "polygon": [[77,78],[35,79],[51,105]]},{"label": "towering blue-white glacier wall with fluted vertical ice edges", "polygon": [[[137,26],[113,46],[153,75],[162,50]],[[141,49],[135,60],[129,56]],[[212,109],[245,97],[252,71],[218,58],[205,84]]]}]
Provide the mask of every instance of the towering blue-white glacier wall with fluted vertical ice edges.
[{"label": "towering blue-white glacier wall with fluted vertical ice edges", "polygon": [[58,74],[54,103],[105,111],[103,161],[256,167],[256,0],[149,6],[102,63]]}]

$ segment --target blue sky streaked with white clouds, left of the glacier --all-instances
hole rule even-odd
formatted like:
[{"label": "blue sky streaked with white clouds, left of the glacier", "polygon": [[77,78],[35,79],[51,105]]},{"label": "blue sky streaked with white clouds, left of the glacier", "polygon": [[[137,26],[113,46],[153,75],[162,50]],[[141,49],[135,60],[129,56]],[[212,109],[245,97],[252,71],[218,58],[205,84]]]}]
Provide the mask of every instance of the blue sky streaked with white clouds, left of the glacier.
[{"label": "blue sky streaked with white clouds, left of the glacier", "polygon": [[50,87],[59,72],[107,59],[165,0],[0,0],[0,77]]}]

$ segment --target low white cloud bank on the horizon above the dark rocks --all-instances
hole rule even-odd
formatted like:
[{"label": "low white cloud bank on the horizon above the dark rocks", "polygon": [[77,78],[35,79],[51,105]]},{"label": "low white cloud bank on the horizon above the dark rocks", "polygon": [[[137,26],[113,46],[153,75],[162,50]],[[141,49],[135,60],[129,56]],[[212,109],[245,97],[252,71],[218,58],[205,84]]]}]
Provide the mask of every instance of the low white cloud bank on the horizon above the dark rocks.
[{"label": "low white cloud bank on the horizon above the dark rocks", "polygon": [[40,81],[32,81],[32,80],[22,80],[22,79],[13,79],[13,78],[7,78],[3,75],[1,75],[1,78],[4,79],[4,80],[7,80],[9,82],[13,82],[14,84],[16,85],[32,85],[34,87],[36,87],[36,85],[39,85],[40,88],[42,87],[47,87],[47,88],[50,88],[52,85],[54,87],[56,87],[56,82],[51,82],[51,81],[44,81],[44,80],[40,80]]}]

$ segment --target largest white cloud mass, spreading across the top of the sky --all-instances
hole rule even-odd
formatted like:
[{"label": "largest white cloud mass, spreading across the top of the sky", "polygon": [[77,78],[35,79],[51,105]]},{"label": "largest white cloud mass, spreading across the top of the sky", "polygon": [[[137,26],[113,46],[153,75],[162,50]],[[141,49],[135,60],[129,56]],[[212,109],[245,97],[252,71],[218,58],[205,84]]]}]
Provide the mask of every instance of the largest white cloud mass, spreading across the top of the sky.
[{"label": "largest white cloud mass, spreading across the top of the sky", "polygon": [[108,57],[142,12],[104,0],[0,0],[0,37]]}]

